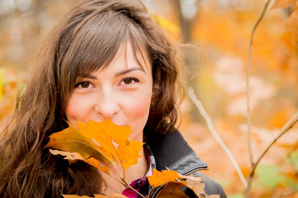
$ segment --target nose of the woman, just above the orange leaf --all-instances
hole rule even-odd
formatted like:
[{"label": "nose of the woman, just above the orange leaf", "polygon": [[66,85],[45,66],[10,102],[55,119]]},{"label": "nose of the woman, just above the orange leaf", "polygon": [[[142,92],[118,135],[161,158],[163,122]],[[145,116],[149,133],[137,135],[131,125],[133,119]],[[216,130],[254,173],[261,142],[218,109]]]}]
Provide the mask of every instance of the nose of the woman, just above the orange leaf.
[{"label": "nose of the woman, just above the orange leaf", "polygon": [[104,119],[111,119],[111,117],[119,112],[119,104],[113,94],[104,94],[103,97],[99,97],[94,107],[97,113],[100,113]]}]

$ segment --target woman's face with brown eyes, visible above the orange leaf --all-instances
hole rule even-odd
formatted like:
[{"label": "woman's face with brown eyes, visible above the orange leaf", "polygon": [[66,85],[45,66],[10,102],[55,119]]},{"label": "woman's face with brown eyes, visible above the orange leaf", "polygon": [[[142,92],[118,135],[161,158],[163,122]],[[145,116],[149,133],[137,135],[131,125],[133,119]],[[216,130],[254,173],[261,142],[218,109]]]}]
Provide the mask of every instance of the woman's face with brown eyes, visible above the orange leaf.
[{"label": "woman's face with brown eyes, visible above the orange leaf", "polygon": [[143,142],[152,96],[151,65],[148,59],[146,63],[148,67],[142,62],[144,72],[128,43],[127,67],[125,50],[120,48],[107,68],[78,79],[66,108],[68,121],[76,127],[75,121],[110,119],[118,126],[131,126],[130,140]]}]

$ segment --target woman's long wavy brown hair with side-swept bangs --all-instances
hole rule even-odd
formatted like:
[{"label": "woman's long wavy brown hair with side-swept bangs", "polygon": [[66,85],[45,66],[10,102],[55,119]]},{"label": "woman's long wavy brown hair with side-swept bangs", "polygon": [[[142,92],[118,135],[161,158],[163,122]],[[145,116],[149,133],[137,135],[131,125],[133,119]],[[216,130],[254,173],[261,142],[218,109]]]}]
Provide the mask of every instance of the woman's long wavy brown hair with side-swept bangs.
[{"label": "woman's long wavy brown hair with side-swept bangs", "polygon": [[65,108],[75,79],[107,67],[127,42],[139,64],[137,54],[149,57],[157,85],[144,135],[150,141],[154,134],[170,133],[177,122],[180,87],[175,46],[141,1],[84,0],[45,39],[11,123],[1,133],[1,198],[102,193],[104,181],[96,168],[69,165],[42,148],[48,136],[68,127]]}]

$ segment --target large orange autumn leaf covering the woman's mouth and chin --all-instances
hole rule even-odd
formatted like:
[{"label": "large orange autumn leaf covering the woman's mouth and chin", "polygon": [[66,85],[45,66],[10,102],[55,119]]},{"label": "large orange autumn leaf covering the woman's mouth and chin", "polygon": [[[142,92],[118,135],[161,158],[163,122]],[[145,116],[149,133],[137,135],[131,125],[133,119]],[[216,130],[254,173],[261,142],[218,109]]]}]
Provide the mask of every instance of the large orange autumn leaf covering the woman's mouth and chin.
[{"label": "large orange autumn leaf covering the woman's mouth and chin", "polygon": [[123,170],[126,170],[137,164],[138,158],[142,157],[139,153],[143,143],[128,140],[132,133],[130,126],[117,126],[109,119],[102,123],[76,122],[79,130],[71,123],[68,124],[69,128],[50,136],[50,142],[45,148],[62,150],[51,150],[51,153],[66,156],[64,159],[68,159],[70,163],[82,160],[110,175],[109,169],[100,165],[97,160],[103,159],[105,163],[110,161],[116,164],[115,158],[121,163]]}]

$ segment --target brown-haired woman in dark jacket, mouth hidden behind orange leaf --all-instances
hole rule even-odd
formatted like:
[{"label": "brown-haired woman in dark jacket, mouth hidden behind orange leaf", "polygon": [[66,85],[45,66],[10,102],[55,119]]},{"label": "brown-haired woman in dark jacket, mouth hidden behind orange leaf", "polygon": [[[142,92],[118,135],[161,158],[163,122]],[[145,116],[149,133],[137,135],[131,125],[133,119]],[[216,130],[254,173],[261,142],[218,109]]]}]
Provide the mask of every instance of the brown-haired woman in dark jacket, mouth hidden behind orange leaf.
[{"label": "brown-haired woman in dark jacket, mouth hidden behind orange leaf", "polygon": [[[96,168],[42,149],[48,137],[75,121],[132,127],[131,140],[146,142],[126,181],[149,192],[151,168],[165,166],[205,180],[207,194],[222,187],[198,172],[208,169],[174,125],[179,90],[175,47],[138,0],[85,0],[45,40],[25,92],[0,144],[1,198],[61,198],[134,192]],[[153,189],[155,197],[161,189]],[[190,197],[191,192],[185,192]]]}]

